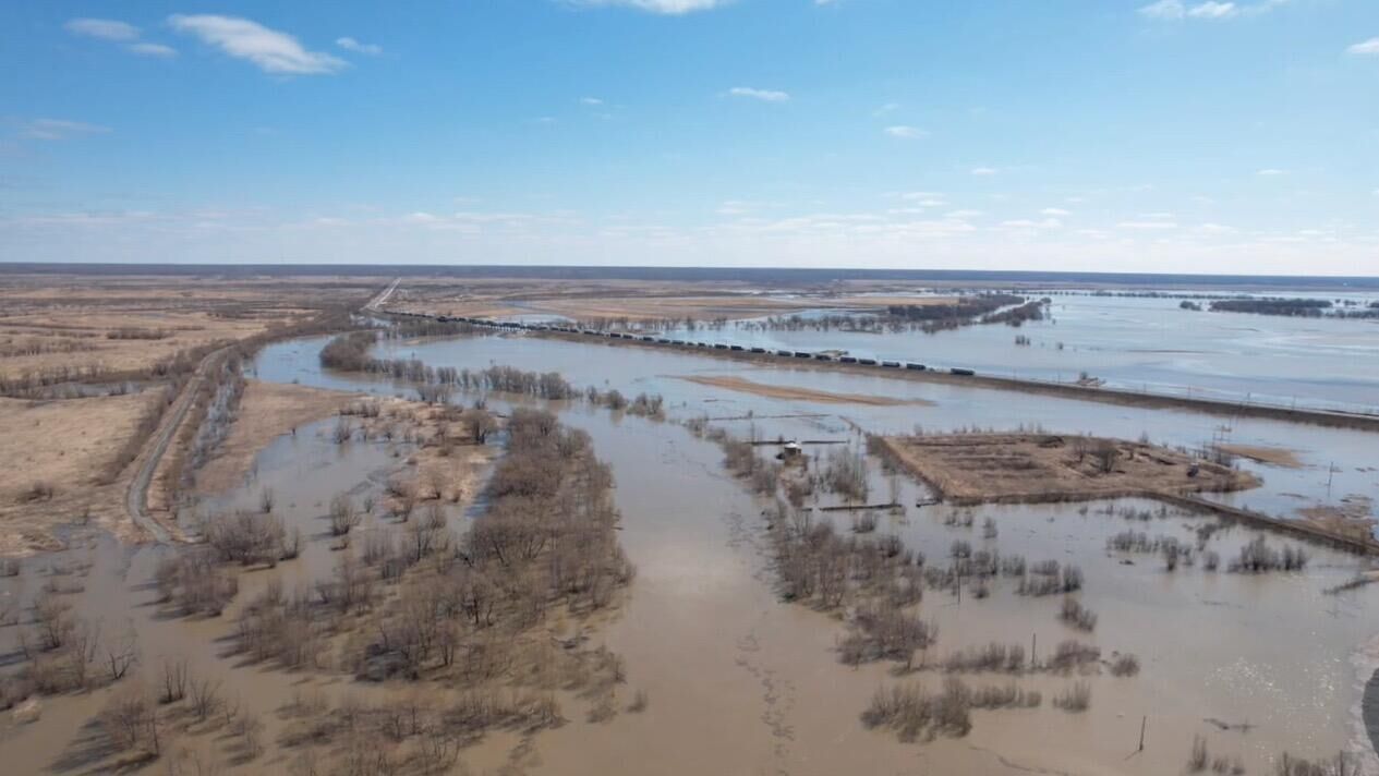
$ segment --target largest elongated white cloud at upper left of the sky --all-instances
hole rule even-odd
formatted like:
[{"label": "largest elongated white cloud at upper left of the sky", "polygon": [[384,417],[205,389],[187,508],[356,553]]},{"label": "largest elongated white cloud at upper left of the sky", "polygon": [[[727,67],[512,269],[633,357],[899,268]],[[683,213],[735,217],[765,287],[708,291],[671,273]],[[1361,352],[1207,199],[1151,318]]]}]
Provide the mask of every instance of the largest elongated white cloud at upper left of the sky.
[{"label": "largest elongated white cloud at upper left of the sky", "polygon": [[194,34],[230,57],[252,62],[265,73],[313,76],[335,73],[346,66],[343,59],[323,51],[308,51],[291,34],[250,19],[174,14],[168,17],[168,25],[178,32]]}]

